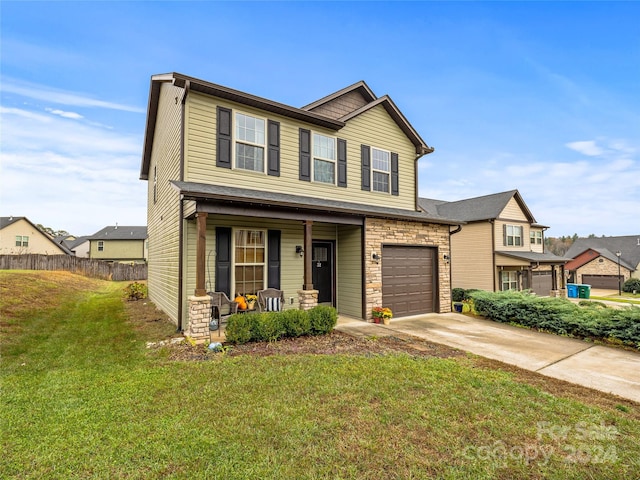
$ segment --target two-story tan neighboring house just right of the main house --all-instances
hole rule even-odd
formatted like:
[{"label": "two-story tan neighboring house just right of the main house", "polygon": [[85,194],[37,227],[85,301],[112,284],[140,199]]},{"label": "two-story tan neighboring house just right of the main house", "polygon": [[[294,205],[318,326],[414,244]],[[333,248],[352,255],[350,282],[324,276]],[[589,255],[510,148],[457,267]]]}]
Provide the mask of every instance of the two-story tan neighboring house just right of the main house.
[{"label": "two-story tan neighboring house just right of the main house", "polygon": [[431,215],[466,222],[451,237],[451,284],[558,296],[567,259],[544,251],[544,230],[518,190],[456,202],[419,199]]}]

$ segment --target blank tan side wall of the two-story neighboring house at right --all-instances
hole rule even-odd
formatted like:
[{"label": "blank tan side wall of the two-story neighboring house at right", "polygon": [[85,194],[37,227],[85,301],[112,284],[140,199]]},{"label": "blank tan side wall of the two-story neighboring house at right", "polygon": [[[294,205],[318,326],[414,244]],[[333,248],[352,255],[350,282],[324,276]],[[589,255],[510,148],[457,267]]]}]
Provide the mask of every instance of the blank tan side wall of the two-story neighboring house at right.
[{"label": "blank tan side wall of the two-story neighboring house at right", "polygon": [[469,223],[451,236],[453,288],[493,290],[493,249],[490,222]]}]

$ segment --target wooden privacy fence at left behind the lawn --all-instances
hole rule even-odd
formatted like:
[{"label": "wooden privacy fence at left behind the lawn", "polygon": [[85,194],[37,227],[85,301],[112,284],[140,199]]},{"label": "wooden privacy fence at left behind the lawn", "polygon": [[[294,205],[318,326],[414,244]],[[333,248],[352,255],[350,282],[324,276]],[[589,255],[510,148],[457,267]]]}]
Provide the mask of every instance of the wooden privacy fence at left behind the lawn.
[{"label": "wooden privacy fence at left behind the lawn", "polygon": [[147,279],[147,265],[144,263],[110,263],[72,255],[0,255],[0,270],[64,270],[103,280]]}]

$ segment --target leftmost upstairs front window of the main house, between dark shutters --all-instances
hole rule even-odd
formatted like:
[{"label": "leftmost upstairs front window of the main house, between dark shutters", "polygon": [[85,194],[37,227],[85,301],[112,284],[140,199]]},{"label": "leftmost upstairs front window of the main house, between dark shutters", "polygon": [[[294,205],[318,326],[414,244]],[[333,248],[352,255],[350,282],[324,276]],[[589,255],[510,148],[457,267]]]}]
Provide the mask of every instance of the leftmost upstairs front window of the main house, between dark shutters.
[{"label": "leftmost upstairs front window of the main house, between dark shutters", "polygon": [[264,172],[265,121],[236,113],[236,168]]}]

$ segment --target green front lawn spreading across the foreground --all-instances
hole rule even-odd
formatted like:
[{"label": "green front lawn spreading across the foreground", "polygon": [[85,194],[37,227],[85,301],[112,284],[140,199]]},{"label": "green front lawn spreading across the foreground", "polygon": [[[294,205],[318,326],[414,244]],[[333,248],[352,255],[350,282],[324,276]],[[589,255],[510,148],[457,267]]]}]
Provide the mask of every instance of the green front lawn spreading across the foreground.
[{"label": "green front lawn spreading across the foreground", "polygon": [[472,358],[169,361],[148,353],[148,338],[128,321],[124,285],[69,278],[50,282],[48,302],[20,308],[15,298],[37,303],[33,284],[47,279],[0,272],[0,478],[635,479],[640,471],[634,404],[559,398]]}]

